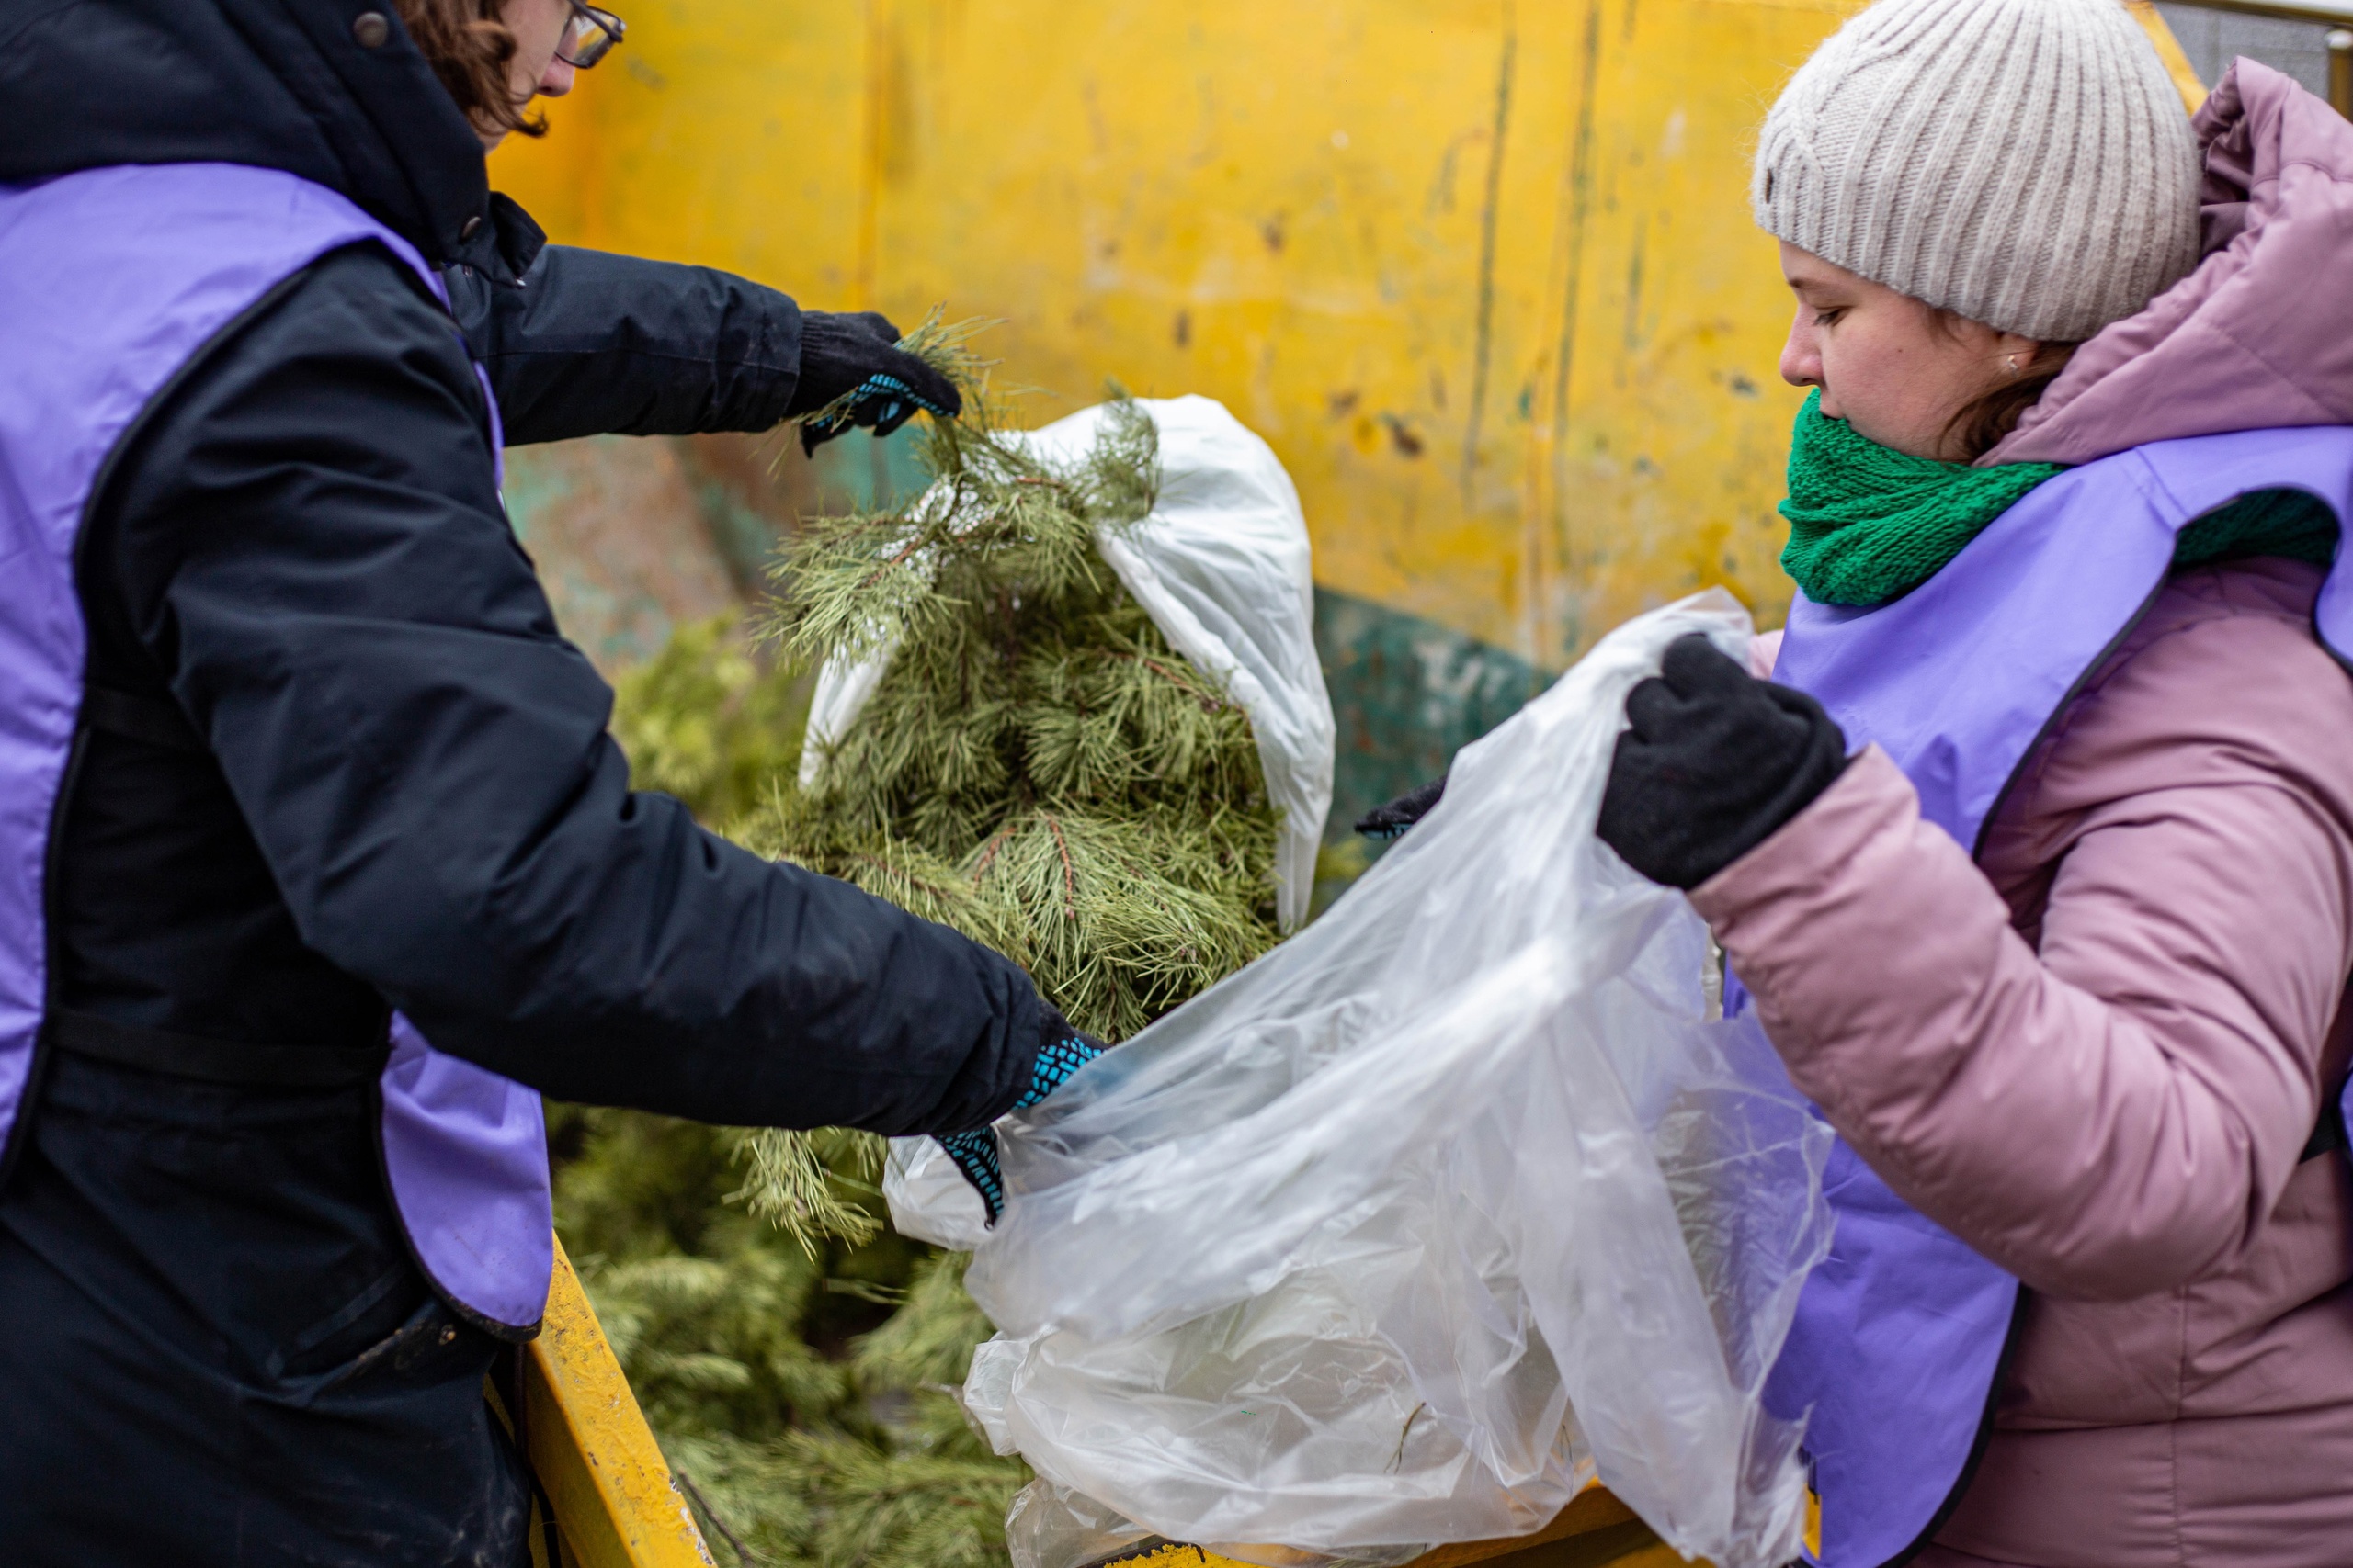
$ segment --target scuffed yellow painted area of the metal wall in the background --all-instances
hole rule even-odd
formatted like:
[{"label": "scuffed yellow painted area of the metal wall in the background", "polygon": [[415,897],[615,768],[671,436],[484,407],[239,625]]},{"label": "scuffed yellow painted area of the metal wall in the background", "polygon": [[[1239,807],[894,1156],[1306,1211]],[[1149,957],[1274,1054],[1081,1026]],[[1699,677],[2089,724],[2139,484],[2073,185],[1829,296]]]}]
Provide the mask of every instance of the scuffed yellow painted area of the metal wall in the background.
[{"label": "scuffed yellow painted area of the metal wall in the background", "polygon": [[558,240],[993,315],[1038,421],[1209,393],[1327,588],[1544,668],[1772,621],[1786,294],[1753,127],[1845,0],[640,0],[494,160]]}]

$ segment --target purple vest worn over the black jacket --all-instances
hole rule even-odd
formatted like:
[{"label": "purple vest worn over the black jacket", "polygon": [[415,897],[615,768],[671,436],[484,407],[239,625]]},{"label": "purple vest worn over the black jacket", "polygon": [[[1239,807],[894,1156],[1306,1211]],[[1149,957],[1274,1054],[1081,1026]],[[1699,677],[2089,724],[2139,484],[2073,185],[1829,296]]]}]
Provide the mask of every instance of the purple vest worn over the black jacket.
[{"label": "purple vest worn over the black jacket", "polygon": [[[0,1135],[21,1119],[47,1006],[42,879],[82,708],[73,545],[89,489],[214,334],[362,240],[447,303],[405,240],[275,169],[115,167],[0,186]],[[442,1056],[398,1013],[379,1093],[384,1175],[416,1262],[471,1319],[504,1338],[536,1333],[553,1262],[539,1095]]]}]

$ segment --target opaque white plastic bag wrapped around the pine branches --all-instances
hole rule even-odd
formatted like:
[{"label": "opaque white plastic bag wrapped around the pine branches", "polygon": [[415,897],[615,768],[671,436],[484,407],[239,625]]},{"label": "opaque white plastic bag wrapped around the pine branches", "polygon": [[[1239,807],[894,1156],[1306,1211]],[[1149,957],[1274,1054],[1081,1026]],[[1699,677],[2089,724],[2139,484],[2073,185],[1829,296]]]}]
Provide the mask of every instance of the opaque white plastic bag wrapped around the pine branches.
[{"label": "opaque white plastic bag wrapped around the pine branches", "polygon": [[[1275,835],[1275,917],[1299,926],[1315,893],[1315,846],[1332,809],[1332,696],[1315,661],[1315,583],[1308,524],[1282,461],[1209,397],[1139,397],[1160,433],[1160,491],[1151,515],[1096,536],[1096,548],[1160,635],[1249,715]],[[1075,465],[1094,447],[1106,404],[1016,440]],[[920,505],[920,501],[918,501]],[[826,663],[809,701],[800,783],[849,733],[889,668],[889,649],[856,665]]]}]

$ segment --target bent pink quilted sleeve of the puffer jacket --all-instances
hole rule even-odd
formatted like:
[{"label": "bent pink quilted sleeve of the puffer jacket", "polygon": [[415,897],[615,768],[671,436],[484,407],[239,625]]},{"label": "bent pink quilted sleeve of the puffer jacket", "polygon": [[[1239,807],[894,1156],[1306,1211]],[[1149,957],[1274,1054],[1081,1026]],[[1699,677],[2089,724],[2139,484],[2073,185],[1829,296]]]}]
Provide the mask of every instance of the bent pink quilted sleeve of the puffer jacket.
[{"label": "bent pink quilted sleeve of the puffer jacket", "polygon": [[[2353,823],[2308,764],[2313,726],[2353,733],[2353,703],[2280,630],[2271,691],[2200,691],[2219,661],[2177,637],[2108,693],[2177,715],[2148,769],[2172,783],[2068,820],[2040,950],[1878,748],[1692,896],[1840,1135],[2038,1291],[2127,1300],[2231,1260],[2318,1117]],[[2097,776],[2127,748],[2146,769],[2153,733],[2064,743]]]}]

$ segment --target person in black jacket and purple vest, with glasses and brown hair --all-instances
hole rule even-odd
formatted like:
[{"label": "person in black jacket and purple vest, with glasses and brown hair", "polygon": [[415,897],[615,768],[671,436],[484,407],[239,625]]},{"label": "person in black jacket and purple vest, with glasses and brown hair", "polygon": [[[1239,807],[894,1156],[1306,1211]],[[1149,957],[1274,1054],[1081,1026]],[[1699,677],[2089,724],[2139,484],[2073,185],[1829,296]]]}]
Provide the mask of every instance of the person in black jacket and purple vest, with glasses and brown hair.
[{"label": "person in black jacket and purple vest, with glasses and brown hair", "polygon": [[0,0],[12,1563],[520,1561],[529,1091],[953,1133],[1061,1072],[1002,957],[631,792],[499,421],[955,393],[880,317],[544,244],[485,139],[619,28],[489,12]]}]

